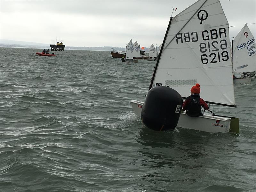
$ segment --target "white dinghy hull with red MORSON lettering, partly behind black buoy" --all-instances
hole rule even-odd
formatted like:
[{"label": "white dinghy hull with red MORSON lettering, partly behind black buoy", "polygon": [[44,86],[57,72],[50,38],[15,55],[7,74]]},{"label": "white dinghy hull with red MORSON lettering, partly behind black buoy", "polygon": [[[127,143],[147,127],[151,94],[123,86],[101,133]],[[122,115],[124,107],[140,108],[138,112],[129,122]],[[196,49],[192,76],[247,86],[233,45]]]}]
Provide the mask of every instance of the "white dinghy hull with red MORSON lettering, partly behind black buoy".
[{"label": "white dinghy hull with red MORSON lettering, partly behind black buoy", "polygon": [[[140,116],[143,107],[143,102],[137,100],[131,100],[133,111],[136,115]],[[237,119],[238,120],[238,119]],[[194,129],[204,132],[234,132],[230,129],[231,118],[204,115],[199,117],[190,117],[186,113],[180,113],[179,122],[177,127],[186,129]],[[239,132],[236,129],[235,132]]]}]

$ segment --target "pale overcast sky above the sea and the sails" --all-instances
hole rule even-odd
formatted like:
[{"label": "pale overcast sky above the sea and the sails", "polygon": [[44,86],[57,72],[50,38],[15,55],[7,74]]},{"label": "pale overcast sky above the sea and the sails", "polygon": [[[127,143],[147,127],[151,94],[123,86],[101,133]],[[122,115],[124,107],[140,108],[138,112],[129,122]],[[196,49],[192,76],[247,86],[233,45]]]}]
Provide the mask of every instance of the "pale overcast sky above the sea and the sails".
[{"label": "pale overcast sky above the sea and the sails", "polygon": [[[196,0],[0,0],[0,38],[66,46],[125,47],[132,39],[140,46],[159,46],[172,7],[177,15]],[[245,23],[256,22],[256,0],[220,0],[230,37]],[[248,25],[256,38],[256,24]]]}]

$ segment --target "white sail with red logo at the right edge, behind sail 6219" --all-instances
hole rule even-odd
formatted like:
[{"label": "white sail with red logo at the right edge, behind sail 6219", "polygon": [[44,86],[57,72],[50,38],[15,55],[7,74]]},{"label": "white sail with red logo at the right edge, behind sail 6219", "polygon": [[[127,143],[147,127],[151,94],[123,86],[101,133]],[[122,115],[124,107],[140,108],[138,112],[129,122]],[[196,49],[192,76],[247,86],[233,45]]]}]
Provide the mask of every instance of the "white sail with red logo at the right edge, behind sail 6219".
[{"label": "white sail with red logo at the right edge, behind sail 6219", "polygon": [[233,72],[256,71],[256,52],[254,37],[245,24],[233,40]]}]

